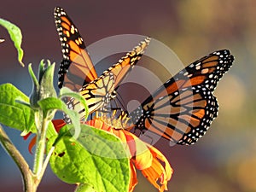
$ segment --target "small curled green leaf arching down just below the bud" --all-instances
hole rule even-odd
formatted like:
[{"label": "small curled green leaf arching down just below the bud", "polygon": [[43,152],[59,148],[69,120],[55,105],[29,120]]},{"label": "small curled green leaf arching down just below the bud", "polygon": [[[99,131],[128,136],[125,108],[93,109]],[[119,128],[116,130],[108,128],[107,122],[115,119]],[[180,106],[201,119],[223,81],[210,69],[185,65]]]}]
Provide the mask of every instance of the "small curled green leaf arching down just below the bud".
[{"label": "small curled green leaf arching down just below the bud", "polygon": [[47,112],[53,110],[61,110],[66,113],[69,118],[72,120],[72,123],[75,127],[75,132],[73,137],[79,137],[79,133],[81,130],[80,122],[79,122],[79,113],[67,108],[65,102],[62,102],[61,99],[55,97],[48,97],[38,102],[40,108],[43,109],[45,115],[49,115]]}]

